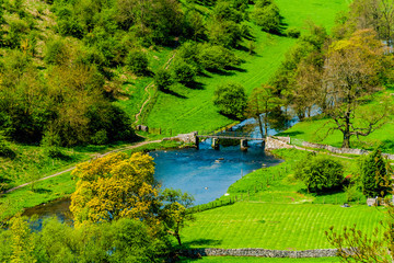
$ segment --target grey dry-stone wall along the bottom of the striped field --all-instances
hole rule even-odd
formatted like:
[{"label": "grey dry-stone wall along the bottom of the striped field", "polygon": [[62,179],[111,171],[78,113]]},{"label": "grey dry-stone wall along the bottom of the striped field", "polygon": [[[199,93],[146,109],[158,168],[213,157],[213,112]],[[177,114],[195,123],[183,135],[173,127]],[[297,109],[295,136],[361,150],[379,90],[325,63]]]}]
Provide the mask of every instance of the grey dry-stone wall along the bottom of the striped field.
[{"label": "grey dry-stone wall along the bottom of the striped field", "polygon": [[336,256],[336,249],[323,250],[266,250],[266,249],[193,249],[183,251],[184,255],[196,256],[260,256],[260,258],[325,258]]}]

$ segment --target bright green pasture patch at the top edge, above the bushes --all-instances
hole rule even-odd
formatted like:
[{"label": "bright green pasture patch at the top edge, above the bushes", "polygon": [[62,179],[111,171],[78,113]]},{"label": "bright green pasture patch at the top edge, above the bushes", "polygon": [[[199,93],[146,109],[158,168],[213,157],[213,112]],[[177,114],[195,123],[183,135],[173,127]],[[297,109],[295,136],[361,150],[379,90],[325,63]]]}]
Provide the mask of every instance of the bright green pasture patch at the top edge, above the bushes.
[{"label": "bright green pasture patch at the top edge, above the bushes", "polygon": [[302,33],[308,32],[306,21],[313,21],[327,31],[334,26],[336,15],[348,9],[351,0],[276,0],[283,23],[297,27]]}]

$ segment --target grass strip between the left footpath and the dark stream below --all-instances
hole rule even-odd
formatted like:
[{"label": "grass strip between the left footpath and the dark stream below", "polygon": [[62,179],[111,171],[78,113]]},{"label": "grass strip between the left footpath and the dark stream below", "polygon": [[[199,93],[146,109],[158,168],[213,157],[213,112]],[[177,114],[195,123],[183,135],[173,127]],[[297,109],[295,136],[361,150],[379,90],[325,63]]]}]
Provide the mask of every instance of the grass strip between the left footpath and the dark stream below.
[{"label": "grass strip between the left footpath and the dark stream below", "polygon": [[34,183],[34,187],[25,186],[0,196],[0,220],[49,201],[68,196],[76,191],[76,181],[71,172]]}]

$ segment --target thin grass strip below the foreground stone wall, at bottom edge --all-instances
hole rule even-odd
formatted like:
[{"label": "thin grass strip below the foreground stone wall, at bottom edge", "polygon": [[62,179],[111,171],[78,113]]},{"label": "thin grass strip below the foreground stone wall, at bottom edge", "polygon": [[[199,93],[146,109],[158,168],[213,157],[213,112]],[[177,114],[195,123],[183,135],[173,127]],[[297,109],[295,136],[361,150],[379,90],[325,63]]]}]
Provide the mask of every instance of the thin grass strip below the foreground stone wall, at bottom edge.
[{"label": "thin grass strip below the foreground stone wall, at bottom edge", "polygon": [[201,259],[182,259],[181,263],[335,263],[340,262],[338,258],[256,258],[256,256],[202,256]]}]

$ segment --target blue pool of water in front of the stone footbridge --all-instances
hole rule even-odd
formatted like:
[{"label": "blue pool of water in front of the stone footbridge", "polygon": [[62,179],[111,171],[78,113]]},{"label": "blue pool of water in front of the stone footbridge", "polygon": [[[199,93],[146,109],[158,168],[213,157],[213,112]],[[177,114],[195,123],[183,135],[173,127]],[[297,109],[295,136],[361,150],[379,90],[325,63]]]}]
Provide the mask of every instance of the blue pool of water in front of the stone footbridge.
[{"label": "blue pool of water in front of the stone footbridge", "polygon": [[[172,187],[195,197],[195,205],[205,204],[227,193],[231,184],[243,175],[281,162],[264,152],[260,142],[250,144],[246,152],[240,146],[210,148],[210,141],[200,149],[153,151],[155,179],[162,188]],[[223,160],[220,160],[222,158]]]}]

